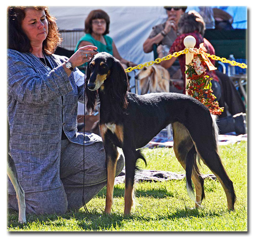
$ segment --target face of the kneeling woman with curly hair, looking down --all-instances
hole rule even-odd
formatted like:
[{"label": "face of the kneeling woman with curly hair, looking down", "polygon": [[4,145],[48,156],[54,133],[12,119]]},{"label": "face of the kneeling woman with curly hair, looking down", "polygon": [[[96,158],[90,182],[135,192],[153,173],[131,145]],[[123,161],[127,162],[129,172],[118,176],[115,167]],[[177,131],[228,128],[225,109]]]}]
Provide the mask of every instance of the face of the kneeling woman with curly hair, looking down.
[{"label": "face of the kneeling woman with curly hair, looking down", "polygon": [[21,26],[32,46],[42,44],[48,35],[48,21],[44,10],[27,9]]}]

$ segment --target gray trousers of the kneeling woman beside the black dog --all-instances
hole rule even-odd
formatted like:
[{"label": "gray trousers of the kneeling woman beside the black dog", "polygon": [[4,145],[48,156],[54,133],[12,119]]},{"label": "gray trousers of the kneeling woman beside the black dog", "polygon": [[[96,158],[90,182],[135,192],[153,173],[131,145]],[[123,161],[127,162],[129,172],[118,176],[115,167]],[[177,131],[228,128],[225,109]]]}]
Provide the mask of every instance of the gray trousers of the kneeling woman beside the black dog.
[{"label": "gray trousers of the kneeling woman beside the black dog", "polygon": [[[116,176],[123,170],[124,157],[117,161]],[[25,193],[26,213],[64,214],[83,206],[83,146],[62,140],[60,177],[57,189]],[[85,147],[84,200],[89,202],[106,185],[105,152],[102,142]],[[8,194],[8,207],[18,211],[16,195]]]}]

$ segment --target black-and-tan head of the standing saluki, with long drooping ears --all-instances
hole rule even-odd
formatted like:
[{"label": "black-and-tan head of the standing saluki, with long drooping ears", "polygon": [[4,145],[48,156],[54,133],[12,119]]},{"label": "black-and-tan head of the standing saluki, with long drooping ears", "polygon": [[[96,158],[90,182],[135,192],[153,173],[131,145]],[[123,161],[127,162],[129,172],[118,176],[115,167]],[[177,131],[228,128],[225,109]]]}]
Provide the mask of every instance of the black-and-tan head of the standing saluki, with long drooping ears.
[{"label": "black-and-tan head of the standing saluki, with long drooping ears", "polygon": [[86,69],[87,108],[94,110],[97,90],[104,91],[109,99],[126,105],[128,78],[122,64],[107,52],[97,53]]}]

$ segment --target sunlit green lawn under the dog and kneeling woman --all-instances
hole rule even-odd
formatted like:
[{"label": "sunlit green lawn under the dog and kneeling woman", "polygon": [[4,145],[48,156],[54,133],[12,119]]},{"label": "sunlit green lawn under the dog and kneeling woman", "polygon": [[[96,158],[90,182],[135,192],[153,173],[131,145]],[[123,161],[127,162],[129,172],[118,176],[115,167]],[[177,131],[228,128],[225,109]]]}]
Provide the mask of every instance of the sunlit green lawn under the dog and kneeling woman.
[{"label": "sunlit green lawn under the dog and kneeling woman", "polygon": [[[106,189],[94,197],[85,213],[81,208],[65,215],[27,215],[27,223],[17,221],[17,213],[8,214],[8,231],[247,231],[247,142],[220,146],[222,162],[234,183],[237,195],[235,211],[227,210],[220,183],[205,179],[203,206],[194,203],[186,192],[185,179],[137,183],[136,206],[129,217],[123,215],[124,184],[115,186],[112,215],[104,215]],[[185,173],[173,149],[145,149],[147,169]],[[141,167],[144,164],[141,161]],[[211,173],[202,163],[201,172]]]}]

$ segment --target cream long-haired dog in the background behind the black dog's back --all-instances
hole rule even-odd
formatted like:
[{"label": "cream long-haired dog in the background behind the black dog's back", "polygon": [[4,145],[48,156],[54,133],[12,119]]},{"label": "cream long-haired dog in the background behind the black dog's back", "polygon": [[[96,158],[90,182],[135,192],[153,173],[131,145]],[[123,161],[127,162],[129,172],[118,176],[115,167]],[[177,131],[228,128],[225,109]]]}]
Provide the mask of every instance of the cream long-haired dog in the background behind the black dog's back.
[{"label": "cream long-haired dog in the background behind the black dog's back", "polygon": [[135,78],[140,81],[141,94],[169,92],[170,74],[159,64],[141,68]]}]

